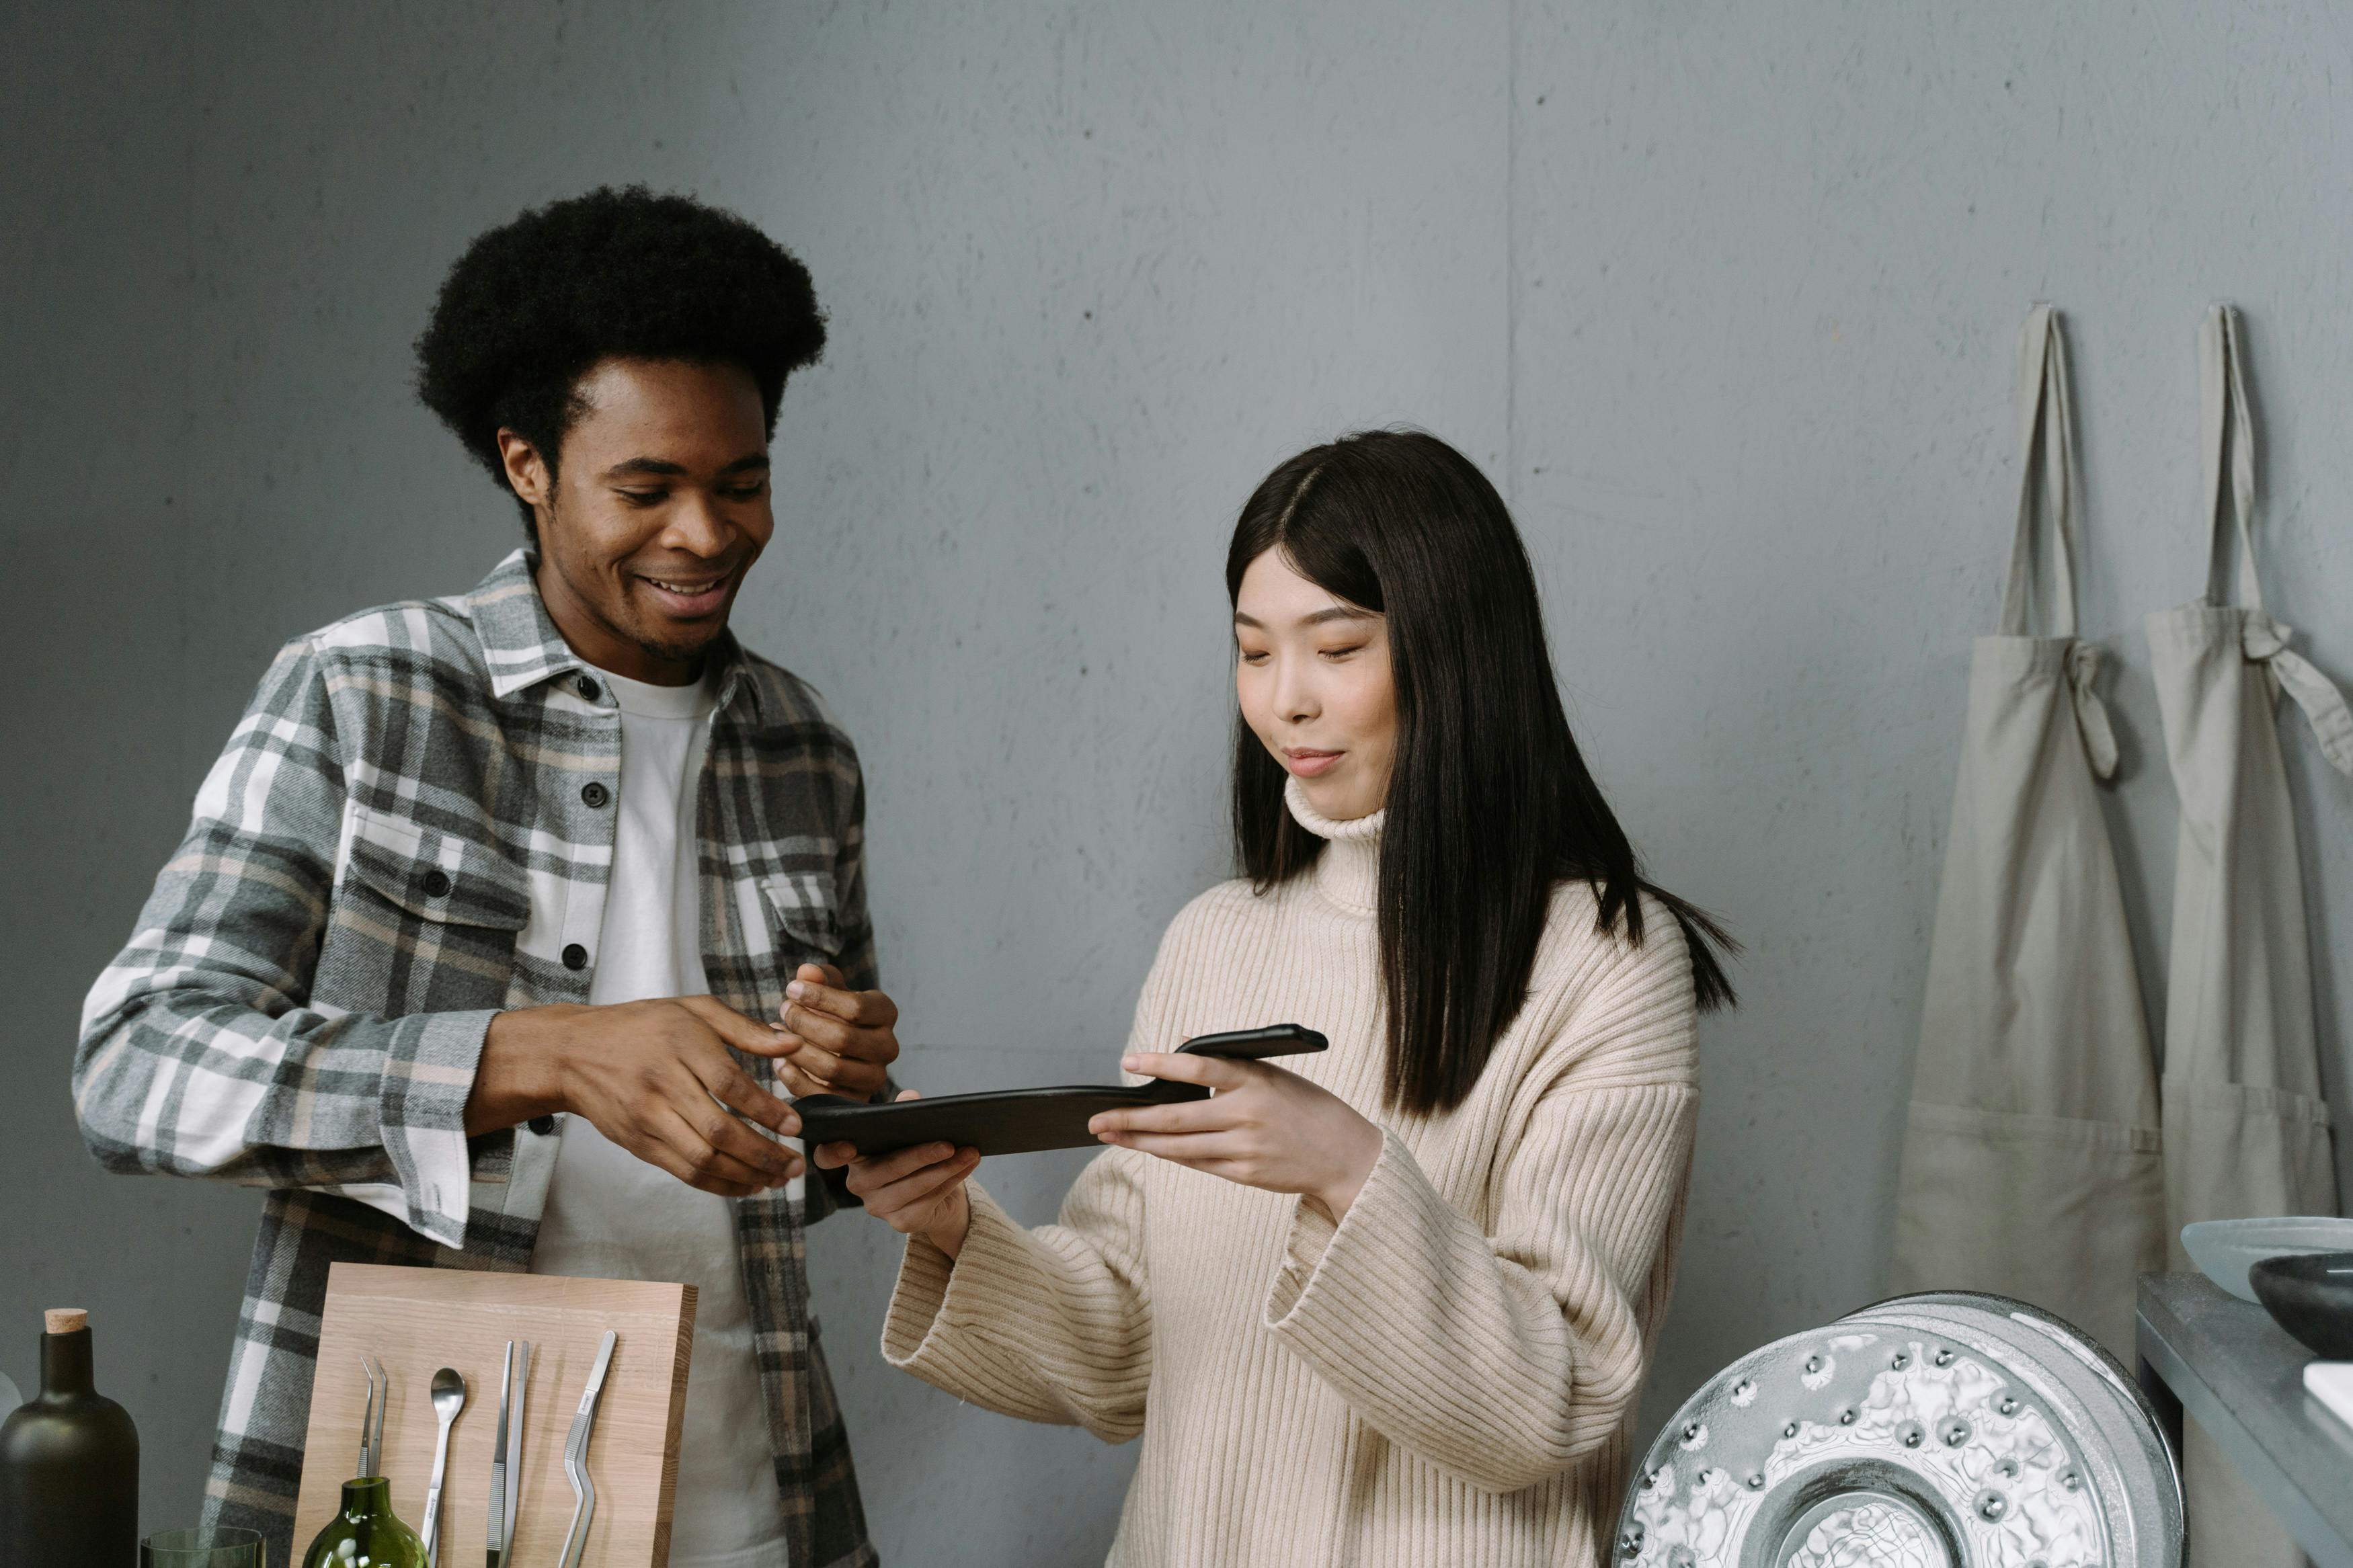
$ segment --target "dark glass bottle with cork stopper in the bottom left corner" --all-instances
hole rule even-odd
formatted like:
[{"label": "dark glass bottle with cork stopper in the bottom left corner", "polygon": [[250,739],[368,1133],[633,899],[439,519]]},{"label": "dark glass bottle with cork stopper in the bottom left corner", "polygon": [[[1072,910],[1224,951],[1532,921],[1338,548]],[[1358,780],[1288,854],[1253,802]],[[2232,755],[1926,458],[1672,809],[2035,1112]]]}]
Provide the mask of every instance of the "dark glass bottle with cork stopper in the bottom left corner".
[{"label": "dark glass bottle with cork stopper in the bottom left corner", "polygon": [[89,1314],[42,1314],[40,1394],[0,1425],[0,1563],[139,1561],[139,1429],[89,1382]]}]

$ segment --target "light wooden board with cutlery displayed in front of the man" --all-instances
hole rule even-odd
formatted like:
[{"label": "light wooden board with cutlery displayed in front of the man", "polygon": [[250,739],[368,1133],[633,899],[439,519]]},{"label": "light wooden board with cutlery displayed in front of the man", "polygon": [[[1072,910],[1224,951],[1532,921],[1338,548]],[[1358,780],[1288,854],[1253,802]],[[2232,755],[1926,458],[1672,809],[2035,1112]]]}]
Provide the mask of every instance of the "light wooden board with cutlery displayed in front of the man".
[{"label": "light wooden board with cutlery displayed in front of the man", "polygon": [[565,1436],[607,1328],[619,1333],[619,1342],[588,1439],[595,1516],[581,1563],[666,1568],[678,1427],[694,1347],[694,1286],[367,1262],[327,1269],[311,1434],[294,1502],[294,1568],[341,1505],[344,1481],[358,1472],[360,1413],[367,1408],[360,1356],[376,1356],[391,1373],[381,1469],[393,1483],[393,1512],[419,1535],[438,1432],[433,1373],[454,1366],[466,1378],[466,1408],[449,1429],[440,1566],[480,1568],[489,1540],[489,1453],[499,1432],[499,1368],[508,1340],[532,1342],[522,1495],[508,1563],[555,1568],[572,1523]]}]

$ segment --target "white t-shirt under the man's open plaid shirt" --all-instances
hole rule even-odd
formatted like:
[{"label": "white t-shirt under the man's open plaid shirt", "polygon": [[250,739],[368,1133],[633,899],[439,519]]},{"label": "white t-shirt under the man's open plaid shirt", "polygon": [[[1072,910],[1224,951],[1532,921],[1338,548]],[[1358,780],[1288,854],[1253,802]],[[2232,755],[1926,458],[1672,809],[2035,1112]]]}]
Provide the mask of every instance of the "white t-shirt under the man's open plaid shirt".
[{"label": "white t-shirt under the man's open plaid shirt", "polygon": [[[621,705],[612,882],[588,1001],[701,997],[701,875],[694,804],[713,693],[600,670]],[[751,1347],[734,1204],[628,1154],[565,1117],[539,1220],[534,1274],[689,1284],[694,1361],[671,1521],[673,1568],[784,1568],[784,1505]]]}]

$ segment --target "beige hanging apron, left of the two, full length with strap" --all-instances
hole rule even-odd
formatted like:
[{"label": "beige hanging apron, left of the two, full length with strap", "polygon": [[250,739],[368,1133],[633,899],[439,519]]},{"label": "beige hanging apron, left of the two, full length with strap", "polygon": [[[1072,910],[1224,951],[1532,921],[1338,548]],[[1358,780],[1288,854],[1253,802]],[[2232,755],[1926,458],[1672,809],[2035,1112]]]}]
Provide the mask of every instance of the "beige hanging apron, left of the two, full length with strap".
[{"label": "beige hanging apron, left of the two, full length with strap", "polygon": [[[1929,943],[1892,1288],[1993,1291],[2132,1359],[2134,1276],[2165,1262],[2158,1084],[2094,785],[2115,736],[2075,642],[2075,442],[2049,306],[2019,346],[2019,522],[1969,729]],[[2031,637],[2035,473],[2057,635]]]}]

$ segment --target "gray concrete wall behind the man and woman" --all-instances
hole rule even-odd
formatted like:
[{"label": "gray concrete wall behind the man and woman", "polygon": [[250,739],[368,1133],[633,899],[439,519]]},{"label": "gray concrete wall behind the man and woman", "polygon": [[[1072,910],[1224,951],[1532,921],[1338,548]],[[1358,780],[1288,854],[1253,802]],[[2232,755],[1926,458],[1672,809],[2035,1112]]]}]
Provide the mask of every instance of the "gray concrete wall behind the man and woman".
[{"label": "gray concrete wall behind the man and woman", "polygon": [[[449,256],[522,205],[694,188],[816,273],[833,348],[786,397],[741,630],[866,752],[925,1086],[1108,1072],[1221,872],[1219,550],[1264,470],[1391,421],[1489,468],[1605,785],[1748,940],[1652,1418],[1880,1288],[2033,299],[2071,310],[2153,1009],[2174,816],[2139,616],[2200,585],[2212,299],[2247,313],[2275,607],[2353,675],[2325,0],[668,12],[12,9],[0,1371],[31,1373],[35,1307],[99,1312],[151,1526],[195,1507],[256,1204],[87,1164],[75,1009],[268,651],[508,548],[405,381]],[[2353,785],[2285,736],[2344,1095]],[[988,1180],[1045,1218],[1073,1168]],[[880,1368],[894,1253],[812,1237],[887,1556],[1094,1561],[1132,1450]]]}]

